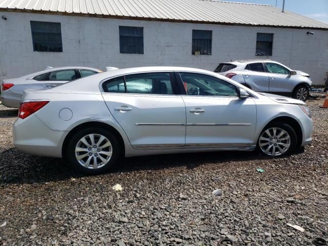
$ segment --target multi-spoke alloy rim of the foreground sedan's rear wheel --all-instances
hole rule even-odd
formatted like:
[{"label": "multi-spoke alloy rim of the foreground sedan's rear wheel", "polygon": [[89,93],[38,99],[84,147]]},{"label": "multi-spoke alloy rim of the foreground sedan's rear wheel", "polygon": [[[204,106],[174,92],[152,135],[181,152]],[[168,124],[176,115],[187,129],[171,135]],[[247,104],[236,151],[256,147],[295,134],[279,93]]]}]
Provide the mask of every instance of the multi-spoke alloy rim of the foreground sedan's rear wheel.
[{"label": "multi-spoke alloy rim of the foreground sedan's rear wheel", "polygon": [[112,144],[100,134],[89,134],[81,138],[75,147],[78,163],[88,169],[104,167],[112,157]]}]

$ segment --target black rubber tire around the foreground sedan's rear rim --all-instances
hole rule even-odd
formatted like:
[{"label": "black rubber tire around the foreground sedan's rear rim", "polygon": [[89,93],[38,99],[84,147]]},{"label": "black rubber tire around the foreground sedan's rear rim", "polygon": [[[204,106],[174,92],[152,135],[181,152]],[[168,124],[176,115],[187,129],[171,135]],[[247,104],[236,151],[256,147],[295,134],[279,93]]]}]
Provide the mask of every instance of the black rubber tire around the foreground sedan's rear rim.
[{"label": "black rubber tire around the foreground sedan's rear rim", "polygon": [[[103,167],[99,167],[96,169],[86,168],[86,167],[82,166],[75,156],[75,148],[78,143],[80,144],[80,139],[84,138],[85,136],[90,135],[90,134],[102,135],[102,136],[106,137],[111,144],[110,147],[108,147],[108,148],[111,148],[109,151],[112,152],[112,155],[109,158],[109,161]],[[95,142],[96,142],[96,140],[99,140],[99,138],[95,139]],[[89,143],[90,142],[91,141],[89,139]],[[101,144],[101,143],[99,143],[99,144]],[[113,168],[116,165],[116,163],[118,162],[118,160],[121,157],[121,153],[122,153],[121,148],[122,147],[120,146],[119,141],[117,140],[117,137],[113,133],[111,133],[110,131],[108,131],[106,129],[90,127],[90,128],[86,128],[86,129],[83,129],[83,130],[75,133],[71,137],[71,139],[69,140],[68,145],[67,145],[66,159],[69,162],[69,164],[72,166],[72,168],[79,173],[84,173],[84,174],[89,174],[89,175],[90,174],[91,175],[92,174],[100,174],[100,173],[108,172],[111,168]],[[88,152],[79,152],[78,154],[80,154],[80,153],[88,153]],[[93,161],[95,158],[94,155],[92,155],[92,154],[98,155],[98,156],[100,155],[98,153],[89,153],[88,155],[91,155],[90,158],[92,158],[90,160],[90,165],[91,165],[91,161]],[[89,157],[88,155],[85,158],[88,158]],[[101,156],[103,158],[107,157],[105,155],[101,155]],[[101,162],[99,157],[96,159],[97,159],[96,162],[99,162],[99,166],[101,166],[101,163],[104,163],[104,162]]]}]

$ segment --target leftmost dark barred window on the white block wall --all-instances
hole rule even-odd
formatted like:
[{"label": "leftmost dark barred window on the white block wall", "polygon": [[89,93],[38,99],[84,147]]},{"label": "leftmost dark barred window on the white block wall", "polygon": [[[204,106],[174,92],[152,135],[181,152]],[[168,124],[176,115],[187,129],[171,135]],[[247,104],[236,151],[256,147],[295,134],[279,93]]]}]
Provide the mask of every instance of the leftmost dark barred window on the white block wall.
[{"label": "leftmost dark barred window on the white block wall", "polygon": [[60,23],[32,22],[33,51],[63,52]]}]

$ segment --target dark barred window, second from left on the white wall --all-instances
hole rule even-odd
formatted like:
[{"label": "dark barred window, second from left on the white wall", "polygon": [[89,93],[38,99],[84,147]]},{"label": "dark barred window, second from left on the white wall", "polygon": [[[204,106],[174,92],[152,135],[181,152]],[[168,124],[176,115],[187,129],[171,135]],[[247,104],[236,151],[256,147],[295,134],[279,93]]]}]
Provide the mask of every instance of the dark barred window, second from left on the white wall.
[{"label": "dark barred window, second from left on the white wall", "polygon": [[144,54],[143,27],[119,27],[119,53]]}]

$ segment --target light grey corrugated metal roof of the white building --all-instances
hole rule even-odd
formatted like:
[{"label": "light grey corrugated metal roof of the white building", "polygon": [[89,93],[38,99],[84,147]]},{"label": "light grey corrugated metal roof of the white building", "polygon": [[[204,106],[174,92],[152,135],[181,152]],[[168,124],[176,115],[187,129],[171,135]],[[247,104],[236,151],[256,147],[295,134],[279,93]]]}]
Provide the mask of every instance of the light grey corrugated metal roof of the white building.
[{"label": "light grey corrugated metal roof of the white building", "polygon": [[216,0],[0,0],[0,11],[328,29],[328,24],[271,5]]}]

